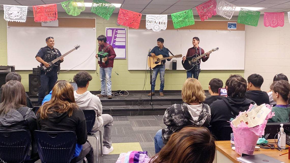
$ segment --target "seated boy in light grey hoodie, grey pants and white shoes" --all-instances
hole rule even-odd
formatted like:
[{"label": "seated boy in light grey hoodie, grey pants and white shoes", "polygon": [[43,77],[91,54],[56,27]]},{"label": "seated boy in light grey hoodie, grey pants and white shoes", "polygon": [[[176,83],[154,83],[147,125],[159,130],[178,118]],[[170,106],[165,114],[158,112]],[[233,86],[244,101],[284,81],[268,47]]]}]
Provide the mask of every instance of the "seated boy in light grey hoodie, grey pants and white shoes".
[{"label": "seated boy in light grey hoodie, grey pants and white shoes", "polygon": [[75,102],[82,110],[95,110],[96,120],[92,132],[96,132],[104,126],[103,154],[107,155],[113,151],[111,139],[113,117],[109,114],[102,114],[102,103],[99,97],[88,91],[88,86],[92,79],[92,76],[86,71],[81,71],[73,77],[73,80],[77,84],[77,90],[74,91]]}]

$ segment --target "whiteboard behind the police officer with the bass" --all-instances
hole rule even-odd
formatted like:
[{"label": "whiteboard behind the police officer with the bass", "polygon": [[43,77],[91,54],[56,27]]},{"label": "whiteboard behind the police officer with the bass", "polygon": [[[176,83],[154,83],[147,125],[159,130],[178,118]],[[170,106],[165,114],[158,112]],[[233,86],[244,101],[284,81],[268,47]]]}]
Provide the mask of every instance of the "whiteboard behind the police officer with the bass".
[{"label": "whiteboard behind the police officer with the bass", "polygon": [[35,55],[40,48],[47,46],[45,39],[54,37],[55,48],[61,54],[80,45],[61,63],[61,70],[95,70],[96,69],[96,31],[93,28],[60,27],[9,27],[7,28],[7,63],[15,70],[32,70],[39,65]]}]

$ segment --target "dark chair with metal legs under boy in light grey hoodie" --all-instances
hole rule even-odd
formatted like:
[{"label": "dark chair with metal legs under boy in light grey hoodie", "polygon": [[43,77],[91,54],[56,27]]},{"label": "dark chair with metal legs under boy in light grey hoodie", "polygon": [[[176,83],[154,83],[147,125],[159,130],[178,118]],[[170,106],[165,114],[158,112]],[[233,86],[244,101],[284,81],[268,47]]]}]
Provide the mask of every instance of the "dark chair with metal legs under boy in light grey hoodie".
[{"label": "dark chair with metal legs under boy in light grey hoodie", "polygon": [[[86,118],[86,126],[87,126],[87,133],[88,136],[93,136],[97,139],[97,150],[99,149],[98,145],[98,137],[97,135],[95,135],[94,133],[91,133],[93,126],[95,124],[95,120],[96,120],[96,112],[93,109],[88,109],[88,110],[83,110],[85,118]],[[101,155],[103,156],[103,137],[102,137],[102,131],[101,129],[98,130],[99,134],[100,134],[100,144],[101,144]],[[98,153],[98,151],[97,151]]]}]

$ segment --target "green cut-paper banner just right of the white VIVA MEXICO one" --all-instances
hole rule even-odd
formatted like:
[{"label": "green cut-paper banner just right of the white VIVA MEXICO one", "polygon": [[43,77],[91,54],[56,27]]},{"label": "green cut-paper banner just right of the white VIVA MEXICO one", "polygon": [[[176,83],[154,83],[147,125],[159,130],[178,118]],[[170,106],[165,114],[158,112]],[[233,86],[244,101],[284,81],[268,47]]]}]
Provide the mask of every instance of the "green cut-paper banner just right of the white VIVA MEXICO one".
[{"label": "green cut-paper banner just right of the white VIVA MEXICO one", "polygon": [[175,29],[194,24],[194,17],[191,9],[173,13],[171,14],[171,18]]}]

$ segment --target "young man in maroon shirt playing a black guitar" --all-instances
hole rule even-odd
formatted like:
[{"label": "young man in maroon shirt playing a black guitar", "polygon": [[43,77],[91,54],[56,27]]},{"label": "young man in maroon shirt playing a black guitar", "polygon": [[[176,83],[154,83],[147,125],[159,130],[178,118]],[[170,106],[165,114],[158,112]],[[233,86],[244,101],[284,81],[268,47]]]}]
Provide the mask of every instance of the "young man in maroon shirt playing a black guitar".
[{"label": "young man in maroon shirt playing a black guitar", "polygon": [[[187,50],[186,57],[191,57],[191,56],[193,56],[195,54],[197,54],[197,56],[200,56],[200,55],[204,54],[204,50],[202,48],[198,47],[198,44],[199,44],[199,38],[198,37],[193,37],[192,44],[193,44],[193,47],[189,48]],[[207,52],[206,56],[202,57],[201,60],[203,62],[207,61],[209,59],[209,54],[210,53],[211,52]],[[182,60],[185,61],[186,57],[182,57]],[[197,63],[197,66],[195,66],[193,69],[191,69],[189,71],[186,71],[187,78],[193,77],[195,79],[198,79],[199,73],[200,73],[200,59],[199,59],[199,63]]]}]

